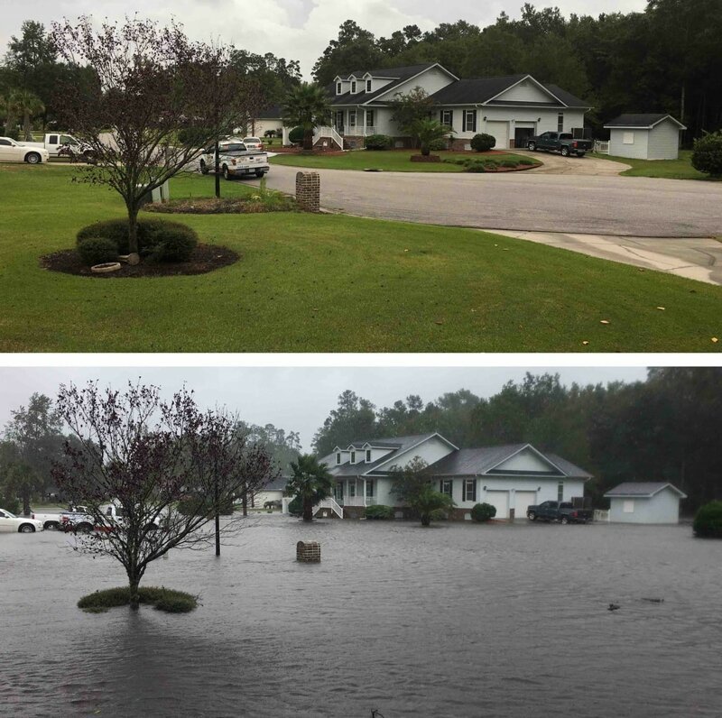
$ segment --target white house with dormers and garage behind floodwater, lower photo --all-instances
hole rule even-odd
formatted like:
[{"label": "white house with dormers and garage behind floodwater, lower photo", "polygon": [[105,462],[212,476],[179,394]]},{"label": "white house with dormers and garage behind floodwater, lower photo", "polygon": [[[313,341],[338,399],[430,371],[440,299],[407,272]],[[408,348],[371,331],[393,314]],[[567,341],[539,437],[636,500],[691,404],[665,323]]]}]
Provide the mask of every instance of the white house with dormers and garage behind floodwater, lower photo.
[{"label": "white house with dormers and garage behind floodwater, lower photo", "polygon": [[336,478],[335,500],[344,518],[363,515],[366,506],[403,506],[391,493],[393,467],[419,457],[425,473],[457,505],[452,518],[468,519],[476,503],[491,503],[497,519],[526,516],[531,504],[566,501],[584,495],[591,478],[579,466],[530,444],[459,449],[438,433],[355,441],[337,446],[319,462]]}]

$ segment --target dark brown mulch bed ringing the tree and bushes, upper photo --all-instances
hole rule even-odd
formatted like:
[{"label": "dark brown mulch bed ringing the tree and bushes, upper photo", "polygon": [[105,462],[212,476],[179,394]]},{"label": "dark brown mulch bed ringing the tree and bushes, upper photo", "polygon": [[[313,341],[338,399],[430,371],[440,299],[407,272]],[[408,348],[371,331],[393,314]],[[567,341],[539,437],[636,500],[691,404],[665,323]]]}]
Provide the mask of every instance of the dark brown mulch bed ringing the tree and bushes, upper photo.
[{"label": "dark brown mulch bed ringing the tree and bushes, upper photo", "polygon": [[218,244],[199,244],[188,262],[149,262],[147,260],[131,266],[121,264],[117,272],[96,274],[80,261],[74,249],[45,254],[40,258],[42,269],[64,274],[76,274],[80,277],[112,280],[124,277],[175,277],[179,275],[206,274],[227,267],[240,259],[240,255]]}]

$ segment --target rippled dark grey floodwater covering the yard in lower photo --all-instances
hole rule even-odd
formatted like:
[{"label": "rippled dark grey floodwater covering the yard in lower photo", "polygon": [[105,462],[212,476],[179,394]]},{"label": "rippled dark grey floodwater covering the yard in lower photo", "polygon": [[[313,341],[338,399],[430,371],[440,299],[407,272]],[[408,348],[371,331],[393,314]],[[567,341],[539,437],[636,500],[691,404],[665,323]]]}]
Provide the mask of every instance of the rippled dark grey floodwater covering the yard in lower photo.
[{"label": "rippled dark grey floodwater covering the yard in lower photo", "polygon": [[722,715],[722,541],[689,526],[254,521],[150,566],[200,594],[177,615],[81,612],[119,565],[0,534],[0,714]]}]

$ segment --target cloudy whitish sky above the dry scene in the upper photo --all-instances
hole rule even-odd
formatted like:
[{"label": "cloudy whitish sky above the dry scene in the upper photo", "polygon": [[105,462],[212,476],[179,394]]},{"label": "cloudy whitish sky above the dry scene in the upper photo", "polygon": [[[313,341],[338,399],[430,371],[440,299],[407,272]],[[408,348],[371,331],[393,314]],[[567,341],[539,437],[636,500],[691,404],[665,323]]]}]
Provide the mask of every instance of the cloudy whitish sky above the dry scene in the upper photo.
[{"label": "cloudy whitish sky above the dry scene in the upper photo", "polygon": [[[535,2],[537,8],[557,6],[569,14],[642,12],[646,0],[557,0]],[[388,37],[404,25],[417,24],[422,31],[440,23],[467,23],[484,27],[494,23],[504,11],[511,18],[521,15],[523,0],[154,0],[133,3],[127,0],[2,0],[0,48],[11,35],[20,34],[23,20],[36,20],[50,27],[53,20],[90,14],[101,20],[122,19],[138,13],[161,23],[175,17],[195,40],[221,41],[237,48],[264,54],[273,52],[286,60],[300,60],[301,71],[310,79],[310,70],[329,40],[338,36],[338,26],[355,20],[376,37]],[[533,73],[533,68],[529,69]]]}]

